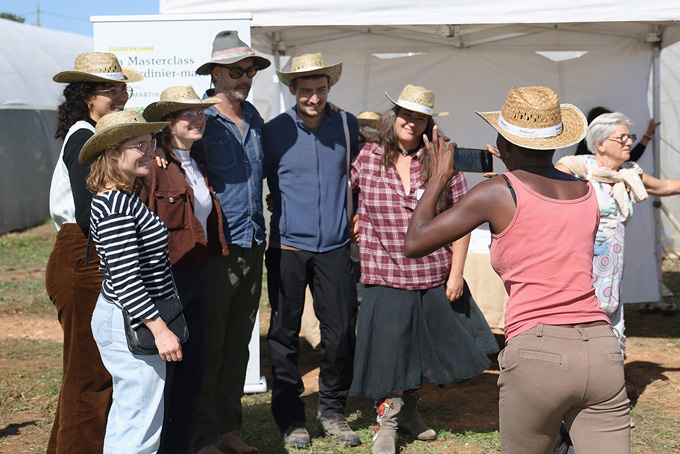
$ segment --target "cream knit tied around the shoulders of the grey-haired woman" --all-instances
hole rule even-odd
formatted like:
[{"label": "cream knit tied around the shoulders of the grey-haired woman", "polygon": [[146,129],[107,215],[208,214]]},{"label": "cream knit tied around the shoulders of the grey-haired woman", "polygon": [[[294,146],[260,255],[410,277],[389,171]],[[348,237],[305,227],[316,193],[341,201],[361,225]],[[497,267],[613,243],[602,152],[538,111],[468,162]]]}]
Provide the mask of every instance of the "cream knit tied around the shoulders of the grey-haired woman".
[{"label": "cream knit tied around the shoulders of the grey-haired woman", "polygon": [[612,197],[624,223],[630,216],[630,203],[642,202],[647,198],[647,190],[640,178],[642,168],[636,162],[624,162],[618,171],[607,167],[590,167],[578,156],[564,156],[557,163],[579,178],[613,184]]}]

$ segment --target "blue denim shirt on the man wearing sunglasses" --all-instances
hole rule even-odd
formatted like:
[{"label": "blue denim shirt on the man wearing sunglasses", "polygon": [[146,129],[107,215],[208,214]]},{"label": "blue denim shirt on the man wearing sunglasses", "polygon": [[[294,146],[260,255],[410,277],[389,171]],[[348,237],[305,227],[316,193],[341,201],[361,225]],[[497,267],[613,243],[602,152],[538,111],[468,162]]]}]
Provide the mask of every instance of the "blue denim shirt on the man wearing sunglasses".
[{"label": "blue denim shirt on the man wearing sunglasses", "polygon": [[[214,95],[208,90],[207,98]],[[265,240],[262,212],[262,126],[264,121],[248,101],[243,108],[243,135],[215,106],[206,109],[203,139],[193,151],[203,158],[224,220],[228,244],[253,247]]]}]

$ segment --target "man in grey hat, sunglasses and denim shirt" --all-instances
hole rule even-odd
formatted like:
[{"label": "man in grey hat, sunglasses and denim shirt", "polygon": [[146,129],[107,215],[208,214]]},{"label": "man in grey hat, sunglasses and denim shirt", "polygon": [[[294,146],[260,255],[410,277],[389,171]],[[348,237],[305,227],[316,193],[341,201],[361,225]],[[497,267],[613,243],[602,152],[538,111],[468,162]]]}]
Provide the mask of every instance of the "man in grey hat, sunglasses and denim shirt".
[{"label": "man in grey hat, sunglasses and denim shirt", "polygon": [[227,257],[211,256],[208,262],[208,347],[193,442],[199,454],[258,452],[236,433],[242,423],[241,396],[262,290],[265,247],[264,122],[246,97],[257,71],[270,64],[255,55],[236,31],[228,30],[217,34],[210,61],[196,70],[212,78],[215,88],[205,97],[222,100],[205,110],[205,133],[193,151],[202,158],[219,199],[230,252]]}]

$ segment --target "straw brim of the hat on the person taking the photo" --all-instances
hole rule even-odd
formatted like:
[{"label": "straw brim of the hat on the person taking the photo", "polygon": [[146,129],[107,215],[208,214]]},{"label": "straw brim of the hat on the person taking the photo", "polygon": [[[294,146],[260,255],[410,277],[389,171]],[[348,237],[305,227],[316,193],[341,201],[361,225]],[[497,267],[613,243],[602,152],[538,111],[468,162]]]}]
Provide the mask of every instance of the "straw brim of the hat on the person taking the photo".
[{"label": "straw brim of the hat on the person taking the photo", "polygon": [[588,122],[578,107],[572,104],[560,104],[562,115],[562,132],[553,137],[521,137],[507,132],[498,124],[498,112],[475,112],[491,125],[508,142],[530,150],[555,150],[576,145],[586,136]]}]

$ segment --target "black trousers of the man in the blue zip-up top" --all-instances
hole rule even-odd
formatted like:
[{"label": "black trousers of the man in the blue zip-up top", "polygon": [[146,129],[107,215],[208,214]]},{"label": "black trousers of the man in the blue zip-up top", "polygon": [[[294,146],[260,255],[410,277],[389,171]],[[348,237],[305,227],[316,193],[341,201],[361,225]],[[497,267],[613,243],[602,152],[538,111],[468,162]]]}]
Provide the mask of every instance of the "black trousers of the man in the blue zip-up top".
[{"label": "black trousers of the man in the blue zip-up top", "polygon": [[272,413],[283,432],[304,424],[304,392],[297,360],[305,287],[314,296],[320,322],[319,413],[342,415],[352,384],[357,293],[349,245],[316,253],[269,248],[265,254],[269,301],[269,350],[272,357]]}]

